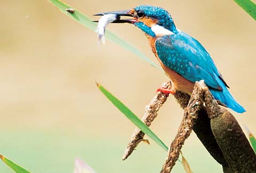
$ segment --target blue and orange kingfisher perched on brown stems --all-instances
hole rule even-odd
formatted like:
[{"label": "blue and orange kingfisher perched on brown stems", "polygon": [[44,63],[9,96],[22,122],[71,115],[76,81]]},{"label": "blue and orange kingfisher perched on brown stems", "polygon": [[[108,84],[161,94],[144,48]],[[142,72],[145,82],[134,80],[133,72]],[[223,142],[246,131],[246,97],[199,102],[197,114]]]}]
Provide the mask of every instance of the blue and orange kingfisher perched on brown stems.
[{"label": "blue and orange kingfisher perched on brown stems", "polygon": [[[99,13],[115,14],[113,23],[130,23],[141,29],[161,67],[171,79],[172,88],[157,90],[169,95],[177,90],[189,95],[196,81],[204,80],[215,100],[238,113],[245,112],[230,94],[226,81],[201,43],[179,30],[162,7],[139,5],[130,10]],[[121,17],[131,17],[122,19]]]}]

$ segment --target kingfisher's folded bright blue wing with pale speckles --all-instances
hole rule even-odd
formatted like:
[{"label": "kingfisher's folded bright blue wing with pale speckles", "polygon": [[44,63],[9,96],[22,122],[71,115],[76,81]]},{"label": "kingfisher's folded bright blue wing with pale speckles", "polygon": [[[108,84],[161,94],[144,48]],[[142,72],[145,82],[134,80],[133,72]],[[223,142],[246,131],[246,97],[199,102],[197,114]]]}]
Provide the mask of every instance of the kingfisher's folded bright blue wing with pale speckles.
[{"label": "kingfisher's folded bright blue wing with pale speckles", "polygon": [[166,67],[193,83],[204,80],[212,89],[227,86],[209,53],[194,38],[184,32],[158,38],[155,47],[159,59]]}]

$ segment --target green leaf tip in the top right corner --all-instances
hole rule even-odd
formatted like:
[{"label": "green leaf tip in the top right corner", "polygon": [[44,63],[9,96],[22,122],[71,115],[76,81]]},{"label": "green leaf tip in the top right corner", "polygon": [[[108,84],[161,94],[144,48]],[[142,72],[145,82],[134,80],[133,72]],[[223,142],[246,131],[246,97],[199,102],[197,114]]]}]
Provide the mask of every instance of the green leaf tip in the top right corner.
[{"label": "green leaf tip in the top right corner", "polygon": [[251,0],[234,0],[244,11],[251,15],[256,20],[256,4]]}]

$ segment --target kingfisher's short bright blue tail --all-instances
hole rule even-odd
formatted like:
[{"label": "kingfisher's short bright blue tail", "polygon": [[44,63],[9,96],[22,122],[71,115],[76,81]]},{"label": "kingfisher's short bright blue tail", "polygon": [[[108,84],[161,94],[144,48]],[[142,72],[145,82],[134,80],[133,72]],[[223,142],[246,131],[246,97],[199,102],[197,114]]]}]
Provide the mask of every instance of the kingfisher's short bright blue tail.
[{"label": "kingfisher's short bright blue tail", "polygon": [[210,89],[213,97],[216,100],[220,101],[223,105],[227,106],[233,111],[236,111],[237,113],[245,112],[243,106],[241,106],[235,101],[235,98],[229,93],[228,89],[226,87],[222,88],[222,91]]}]

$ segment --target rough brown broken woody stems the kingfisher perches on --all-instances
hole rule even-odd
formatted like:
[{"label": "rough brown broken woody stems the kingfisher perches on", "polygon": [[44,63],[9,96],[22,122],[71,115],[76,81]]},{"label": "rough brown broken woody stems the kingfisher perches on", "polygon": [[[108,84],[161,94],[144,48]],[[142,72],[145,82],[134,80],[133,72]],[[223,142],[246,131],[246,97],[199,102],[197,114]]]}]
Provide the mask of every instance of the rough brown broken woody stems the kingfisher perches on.
[{"label": "rough brown broken woody stems the kingfisher perches on", "polygon": [[[165,83],[163,87],[169,88],[171,83]],[[185,112],[161,172],[172,170],[179,158],[179,151],[192,130],[207,151],[222,165],[223,172],[256,172],[256,155],[241,127],[234,116],[213,99],[203,81],[196,83],[191,98],[181,92],[175,93],[174,97]],[[157,111],[166,99],[165,94],[158,92],[146,106],[142,121],[147,126],[156,118]],[[143,136],[144,133],[138,128],[134,130],[123,160],[133,152]]]}]

